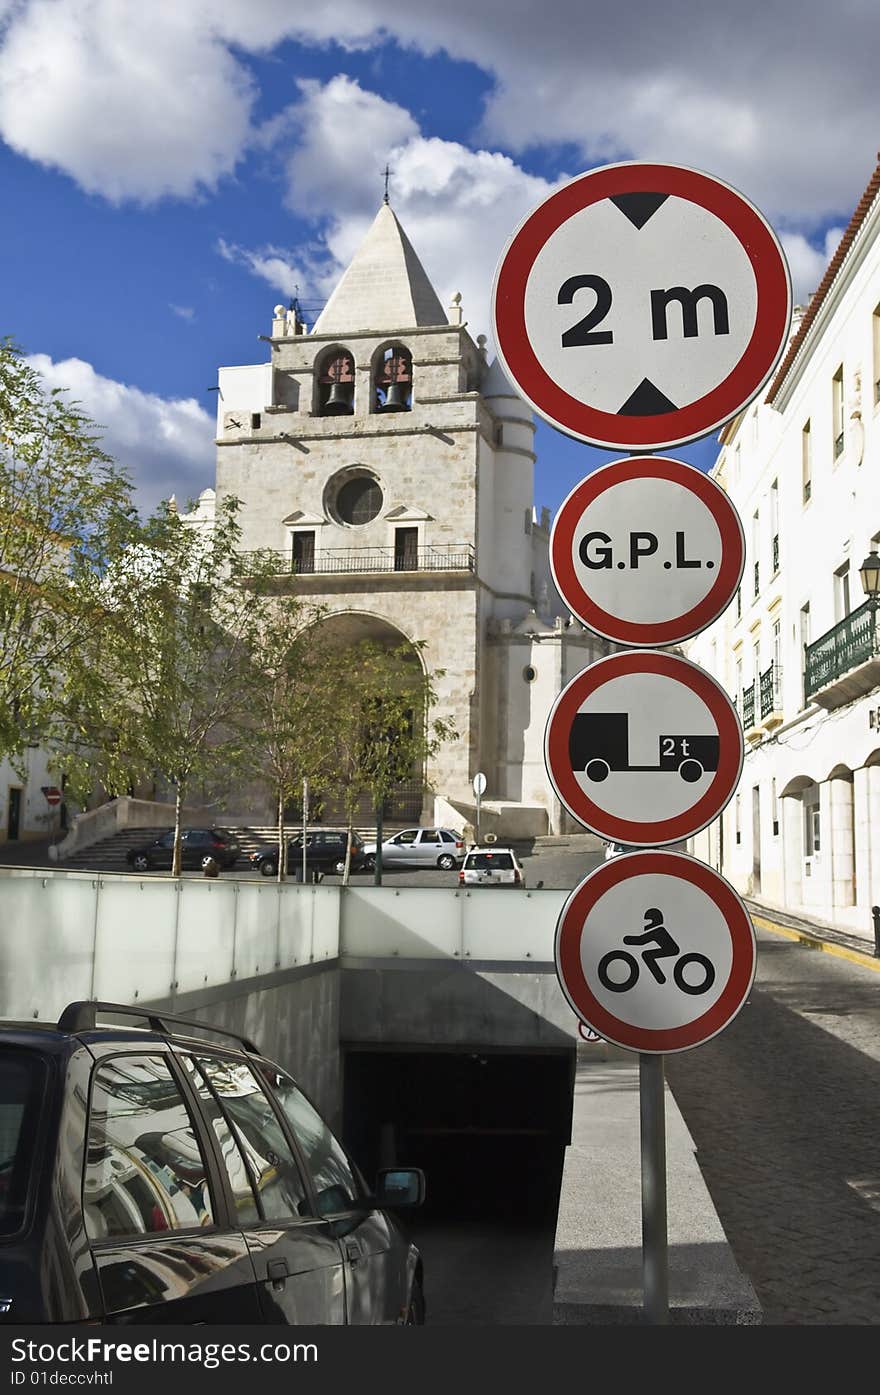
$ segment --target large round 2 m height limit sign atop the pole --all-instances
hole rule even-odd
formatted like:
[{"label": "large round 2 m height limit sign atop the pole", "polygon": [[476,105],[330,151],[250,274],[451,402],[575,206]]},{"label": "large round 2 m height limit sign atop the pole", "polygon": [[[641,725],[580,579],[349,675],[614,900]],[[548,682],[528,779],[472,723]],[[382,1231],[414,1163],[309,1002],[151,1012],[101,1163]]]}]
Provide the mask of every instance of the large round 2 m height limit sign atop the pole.
[{"label": "large round 2 m height limit sign atop the pole", "polygon": [[622,451],[682,445],[768,381],[788,342],[788,264],[722,180],[605,165],[516,229],[492,325],[508,377],[559,431]]}]

